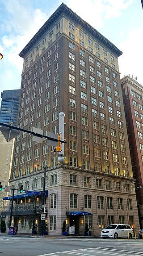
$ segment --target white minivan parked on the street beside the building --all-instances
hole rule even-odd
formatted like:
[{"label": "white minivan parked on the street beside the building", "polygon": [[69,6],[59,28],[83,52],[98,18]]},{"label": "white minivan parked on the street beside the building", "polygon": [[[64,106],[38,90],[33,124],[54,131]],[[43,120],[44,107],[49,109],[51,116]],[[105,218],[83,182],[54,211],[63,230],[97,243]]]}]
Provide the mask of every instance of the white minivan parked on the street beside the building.
[{"label": "white minivan parked on the street beside the building", "polygon": [[130,225],[112,224],[101,230],[101,238],[128,238],[131,239],[134,235]]}]

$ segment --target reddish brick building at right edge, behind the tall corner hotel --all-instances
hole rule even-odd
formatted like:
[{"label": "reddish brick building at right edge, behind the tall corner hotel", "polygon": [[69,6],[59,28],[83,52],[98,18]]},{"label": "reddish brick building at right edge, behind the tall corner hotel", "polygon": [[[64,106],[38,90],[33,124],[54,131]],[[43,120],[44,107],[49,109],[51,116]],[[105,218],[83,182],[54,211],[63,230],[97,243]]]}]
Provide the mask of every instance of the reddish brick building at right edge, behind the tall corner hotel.
[{"label": "reddish brick building at right edge, behind the tall corner hotel", "polygon": [[[143,86],[133,76],[121,79],[140,228],[143,229]],[[139,188],[140,187],[140,188]]]}]

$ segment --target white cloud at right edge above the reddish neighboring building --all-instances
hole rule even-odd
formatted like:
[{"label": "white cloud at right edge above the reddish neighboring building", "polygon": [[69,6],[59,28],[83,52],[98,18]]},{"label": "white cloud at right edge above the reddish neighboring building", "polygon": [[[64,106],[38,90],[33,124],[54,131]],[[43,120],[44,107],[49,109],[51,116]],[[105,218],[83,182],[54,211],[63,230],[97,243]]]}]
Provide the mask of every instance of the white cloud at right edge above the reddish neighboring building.
[{"label": "white cloud at right edge above the reddish neighboring building", "polygon": [[120,45],[123,54],[118,58],[121,78],[124,75],[137,76],[137,81],[143,85],[143,27],[129,31],[126,40]]}]

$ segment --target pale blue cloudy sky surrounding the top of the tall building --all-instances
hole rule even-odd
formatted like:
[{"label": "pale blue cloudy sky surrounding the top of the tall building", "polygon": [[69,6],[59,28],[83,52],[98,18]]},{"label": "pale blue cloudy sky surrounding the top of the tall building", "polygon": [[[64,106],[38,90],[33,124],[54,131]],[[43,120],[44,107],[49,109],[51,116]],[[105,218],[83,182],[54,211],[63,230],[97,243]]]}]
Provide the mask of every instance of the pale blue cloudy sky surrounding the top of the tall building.
[{"label": "pale blue cloudy sky surrounding the top of the tall building", "polygon": [[62,2],[123,52],[121,78],[130,74],[143,85],[141,0],[0,0],[0,94],[20,89],[18,54]]}]

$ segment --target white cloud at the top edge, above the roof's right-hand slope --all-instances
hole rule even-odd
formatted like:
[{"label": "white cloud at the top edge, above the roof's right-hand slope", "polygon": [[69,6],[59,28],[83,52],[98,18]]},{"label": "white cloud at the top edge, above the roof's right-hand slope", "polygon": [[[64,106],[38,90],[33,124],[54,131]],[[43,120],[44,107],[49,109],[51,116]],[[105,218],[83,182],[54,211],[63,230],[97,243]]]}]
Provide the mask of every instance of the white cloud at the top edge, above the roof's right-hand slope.
[{"label": "white cloud at the top edge, above the roof's right-hand slope", "polygon": [[117,18],[135,0],[65,0],[69,8],[80,15],[90,25],[99,29],[103,20]]}]

